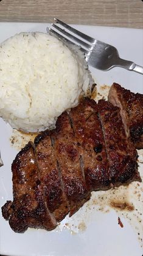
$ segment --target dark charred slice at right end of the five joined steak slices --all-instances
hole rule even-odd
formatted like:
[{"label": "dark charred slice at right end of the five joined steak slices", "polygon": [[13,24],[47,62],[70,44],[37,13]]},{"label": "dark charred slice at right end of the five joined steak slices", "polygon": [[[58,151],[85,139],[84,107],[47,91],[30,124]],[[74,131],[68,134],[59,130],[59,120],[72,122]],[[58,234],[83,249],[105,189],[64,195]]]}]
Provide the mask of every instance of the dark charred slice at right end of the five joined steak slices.
[{"label": "dark charred slice at right end of the five joined steak slices", "polygon": [[136,149],[125,134],[120,109],[105,100],[99,100],[98,108],[110,165],[111,182],[117,185],[131,180],[140,181]]}]

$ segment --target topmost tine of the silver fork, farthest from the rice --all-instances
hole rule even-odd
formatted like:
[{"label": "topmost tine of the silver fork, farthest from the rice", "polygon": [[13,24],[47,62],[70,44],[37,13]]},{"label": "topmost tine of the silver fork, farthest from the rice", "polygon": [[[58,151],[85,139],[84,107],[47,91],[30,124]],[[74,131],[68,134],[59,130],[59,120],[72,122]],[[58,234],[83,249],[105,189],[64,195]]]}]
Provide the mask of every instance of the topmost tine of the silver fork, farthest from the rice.
[{"label": "topmost tine of the silver fork, farthest from the rice", "polygon": [[61,26],[63,26],[63,27],[66,28],[66,29],[69,29],[69,31],[73,32],[73,33],[76,34],[77,36],[82,37],[83,39],[87,40],[88,42],[93,43],[93,44],[96,42],[96,39],[87,36],[86,34],[84,34],[84,33],[80,32],[80,31],[78,31],[78,30],[75,29],[75,28],[72,28],[71,26],[69,26],[68,24],[64,23],[63,21],[58,20],[58,18],[54,18],[54,20],[55,20],[56,23],[61,24]]}]

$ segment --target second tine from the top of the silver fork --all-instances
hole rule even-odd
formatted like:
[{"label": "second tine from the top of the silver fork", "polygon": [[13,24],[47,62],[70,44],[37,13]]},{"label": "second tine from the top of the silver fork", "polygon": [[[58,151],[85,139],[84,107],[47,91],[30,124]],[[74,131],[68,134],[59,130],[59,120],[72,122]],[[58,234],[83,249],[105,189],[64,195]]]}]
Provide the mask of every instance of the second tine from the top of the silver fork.
[{"label": "second tine from the top of the silver fork", "polygon": [[74,40],[76,43],[78,43],[82,47],[87,48],[88,50],[92,50],[93,45],[89,45],[88,43],[83,42],[82,40],[78,39],[77,37],[73,36],[72,34],[69,34],[64,29],[59,28],[57,25],[55,25],[53,23],[52,23],[52,26],[55,29],[57,29],[58,31],[60,31],[62,34],[64,34],[65,36],[69,37],[69,39]]}]

